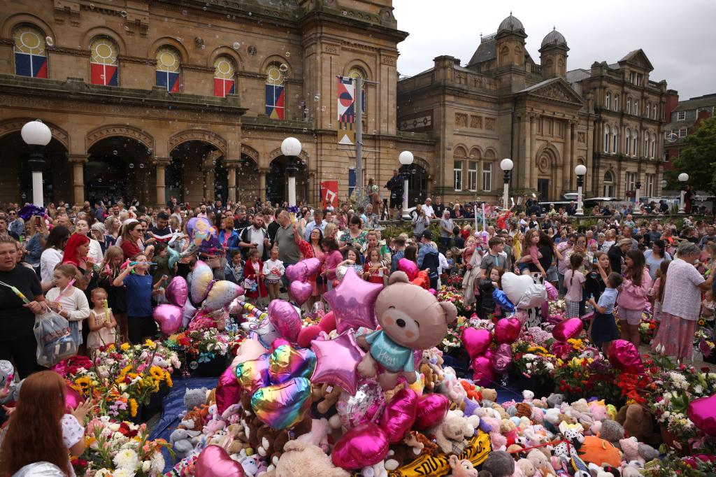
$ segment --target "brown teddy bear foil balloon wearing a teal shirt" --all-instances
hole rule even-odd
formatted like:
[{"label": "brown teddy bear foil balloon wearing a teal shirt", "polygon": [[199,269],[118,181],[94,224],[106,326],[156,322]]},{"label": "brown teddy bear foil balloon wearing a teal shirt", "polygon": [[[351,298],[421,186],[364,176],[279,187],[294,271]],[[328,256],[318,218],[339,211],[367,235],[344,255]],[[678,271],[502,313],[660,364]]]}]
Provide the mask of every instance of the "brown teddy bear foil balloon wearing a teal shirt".
[{"label": "brown teddy bear foil balloon wearing a teal shirt", "polygon": [[387,390],[395,387],[398,375],[415,382],[413,350],[440,344],[458,309],[450,302],[438,302],[430,291],[410,284],[405,272],[395,271],[375,300],[375,314],[381,329],[358,338],[368,352],[357,370],[362,377],[377,376],[380,387]]}]

